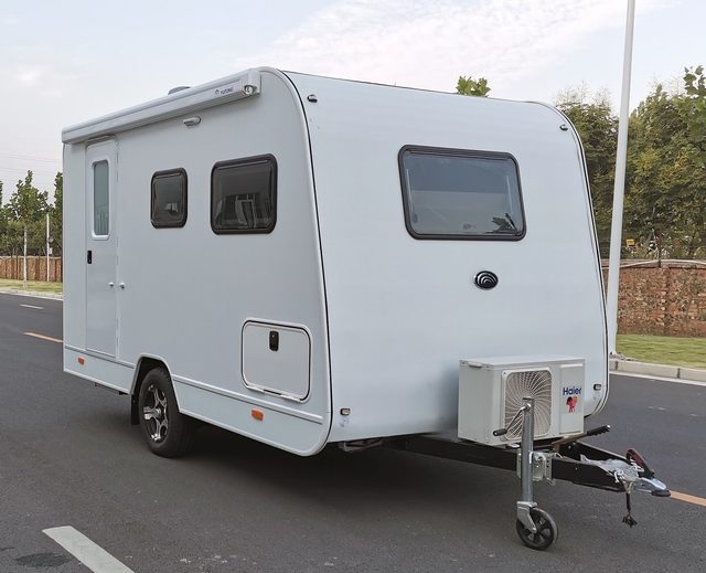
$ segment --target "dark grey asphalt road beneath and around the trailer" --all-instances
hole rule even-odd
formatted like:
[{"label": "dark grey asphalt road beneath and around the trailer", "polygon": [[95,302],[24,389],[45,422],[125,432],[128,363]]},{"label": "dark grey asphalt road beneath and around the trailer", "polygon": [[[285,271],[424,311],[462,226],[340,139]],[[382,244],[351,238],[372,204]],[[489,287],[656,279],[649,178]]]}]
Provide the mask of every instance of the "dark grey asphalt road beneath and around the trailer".
[{"label": "dark grey asphalt road beneath and around the trailer", "polygon": [[[28,308],[21,305],[42,307]],[[86,572],[42,533],[73,526],[142,572],[706,571],[706,507],[538,485],[559,526],[547,552],[515,533],[517,478],[393,450],[299,458],[204,427],[151,455],[129,399],[62,372],[61,303],[0,295],[0,573]],[[643,453],[671,489],[706,498],[706,386],[613,378],[590,425]]]}]

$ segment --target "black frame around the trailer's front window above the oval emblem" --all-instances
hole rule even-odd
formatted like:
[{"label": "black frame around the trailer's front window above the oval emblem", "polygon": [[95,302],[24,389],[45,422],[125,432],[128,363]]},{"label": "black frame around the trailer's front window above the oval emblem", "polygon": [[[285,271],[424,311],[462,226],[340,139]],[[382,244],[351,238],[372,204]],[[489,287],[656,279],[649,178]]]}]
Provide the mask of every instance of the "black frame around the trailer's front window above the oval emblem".
[{"label": "black frame around the trailer's front window above the oval emblem", "polygon": [[[425,233],[417,232],[411,226],[409,189],[407,188],[407,178],[405,177],[404,156],[408,151],[419,153],[419,155],[463,157],[463,158],[470,158],[470,159],[491,159],[491,160],[510,159],[515,167],[515,176],[517,179],[517,200],[520,203],[520,213],[522,215],[522,223],[523,223],[522,233],[517,235],[507,235],[507,234],[469,235],[469,234],[453,234],[453,233],[425,234]],[[403,203],[403,210],[404,210],[404,216],[405,216],[405,226],[407,227],[407,232],[414,238],[417,238],[420,241],[522,241],[527,234],[527,220],[525,217],[525,206],[523,201],[522,183],[520,180],[520,165],[517,163],[517,160],[512,153],[504,152],[504,151],[480,151],[474,149],[456,149],[456,148],[447,148],[447,147],[407,145],[407,146],[403,146],[399,152],[397,153],[397,165],[399,168],[399,183],[402,188],[402,203]]]}]

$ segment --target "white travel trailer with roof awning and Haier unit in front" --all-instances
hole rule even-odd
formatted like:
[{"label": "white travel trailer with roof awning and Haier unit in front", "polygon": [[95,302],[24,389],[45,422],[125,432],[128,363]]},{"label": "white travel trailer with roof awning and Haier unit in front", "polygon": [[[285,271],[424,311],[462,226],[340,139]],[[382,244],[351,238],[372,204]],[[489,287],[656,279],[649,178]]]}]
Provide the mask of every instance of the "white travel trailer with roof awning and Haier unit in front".
[{"label": "white travel trailer with roof awning and Haier unit in front", "polygon": [[606,401],[550,106],[263,67],[63,141],[64,368],[130,394],[158,454],[197,418],[302,456],[441,432],[516,456],[523,399],[548,443]]}]

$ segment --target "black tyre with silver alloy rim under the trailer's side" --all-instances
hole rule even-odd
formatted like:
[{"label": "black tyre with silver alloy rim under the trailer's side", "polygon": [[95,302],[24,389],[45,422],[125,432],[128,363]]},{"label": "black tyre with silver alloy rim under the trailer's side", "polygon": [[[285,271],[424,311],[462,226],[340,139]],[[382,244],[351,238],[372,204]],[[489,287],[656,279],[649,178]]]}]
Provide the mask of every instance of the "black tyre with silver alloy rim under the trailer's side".
[{"label": "black tyre with silver alloy rim under the trailer's side", "polygon": [[150,370],[138,397],[140,427],[153,454],[176,457],[193,445],[195,425],[181,414],[169,373],[163,368]]}]

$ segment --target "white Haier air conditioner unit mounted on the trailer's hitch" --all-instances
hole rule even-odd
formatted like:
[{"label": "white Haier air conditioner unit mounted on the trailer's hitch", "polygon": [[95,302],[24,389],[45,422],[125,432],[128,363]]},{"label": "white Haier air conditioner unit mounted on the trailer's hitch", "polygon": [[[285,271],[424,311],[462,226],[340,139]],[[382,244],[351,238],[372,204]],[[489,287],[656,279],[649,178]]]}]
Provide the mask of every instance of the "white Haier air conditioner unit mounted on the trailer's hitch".
[{"label": "white Haier air conditioner unit mounted on the trailer's hitch", "polygon": [[[584,432],[584,360],[498,357],[461,360],[459,437],[493,446],[520,442],[523,397],[534,399],[534,438]],[[503,436],[493,431],[507,427]]]}]

